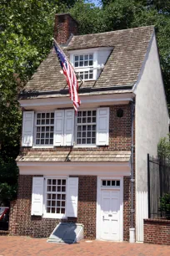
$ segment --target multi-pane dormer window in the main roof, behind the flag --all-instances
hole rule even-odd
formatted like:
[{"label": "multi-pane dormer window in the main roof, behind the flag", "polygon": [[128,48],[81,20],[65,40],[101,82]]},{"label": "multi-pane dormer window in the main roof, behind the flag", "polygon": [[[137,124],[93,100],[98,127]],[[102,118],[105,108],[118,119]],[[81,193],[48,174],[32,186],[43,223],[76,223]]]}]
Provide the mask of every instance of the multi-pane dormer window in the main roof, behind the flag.
[{"label": "multi-pane dormer window in the main roof, behind the flag", "polygon": [[73,64],[81,79],[93,79],[93,54],[74,55]]}]

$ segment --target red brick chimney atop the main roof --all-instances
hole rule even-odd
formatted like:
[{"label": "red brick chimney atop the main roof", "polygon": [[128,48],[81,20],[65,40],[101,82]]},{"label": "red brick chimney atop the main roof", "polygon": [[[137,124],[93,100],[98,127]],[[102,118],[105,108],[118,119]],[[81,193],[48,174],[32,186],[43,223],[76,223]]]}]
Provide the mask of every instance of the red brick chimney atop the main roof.
[{"label": "red brick chimney atop the main roof", "polygon": [[55,15],[54,38],[58,44],[67,45],[71,35],[78,32],[78,23],[69,13]]}]

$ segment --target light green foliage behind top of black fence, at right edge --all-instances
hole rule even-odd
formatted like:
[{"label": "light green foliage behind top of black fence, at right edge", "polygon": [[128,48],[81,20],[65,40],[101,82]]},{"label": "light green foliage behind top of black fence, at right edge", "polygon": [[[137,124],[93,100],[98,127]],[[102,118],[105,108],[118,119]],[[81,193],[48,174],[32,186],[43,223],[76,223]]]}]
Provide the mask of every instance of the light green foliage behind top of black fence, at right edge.
[{"label": "light green foliage behind top of black fence, at right edge", "polygon": [[161,138],[158,143],[158,156],[160,159],[170,160],[170,134]]}]

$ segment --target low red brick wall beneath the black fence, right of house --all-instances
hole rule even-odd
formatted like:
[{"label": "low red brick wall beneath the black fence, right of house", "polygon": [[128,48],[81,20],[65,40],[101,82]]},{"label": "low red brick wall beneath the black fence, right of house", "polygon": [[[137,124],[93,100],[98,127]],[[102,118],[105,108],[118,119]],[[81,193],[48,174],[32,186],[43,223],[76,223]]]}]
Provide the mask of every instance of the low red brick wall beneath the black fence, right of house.
[{"label": "low red brick wall beneath the black fence, right of house", "polygon": [[170,245],[170,220],[144,219],[144,243]]}]

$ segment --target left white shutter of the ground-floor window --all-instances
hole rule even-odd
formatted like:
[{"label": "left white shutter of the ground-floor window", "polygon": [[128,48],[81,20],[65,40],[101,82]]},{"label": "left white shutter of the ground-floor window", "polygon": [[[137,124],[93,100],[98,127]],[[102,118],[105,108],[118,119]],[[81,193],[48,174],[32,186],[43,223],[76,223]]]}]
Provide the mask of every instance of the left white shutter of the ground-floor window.
[{"label": "left white shutter of the ground-floor window", "polygon": [[32,215],[42,216],[43,210],[43,177],[32,179]]}]

